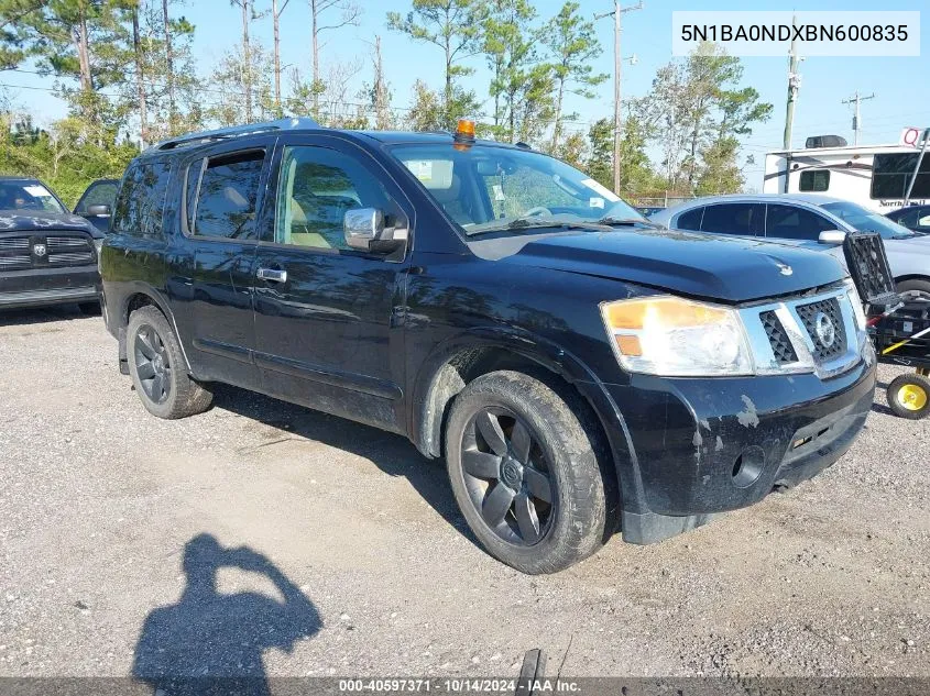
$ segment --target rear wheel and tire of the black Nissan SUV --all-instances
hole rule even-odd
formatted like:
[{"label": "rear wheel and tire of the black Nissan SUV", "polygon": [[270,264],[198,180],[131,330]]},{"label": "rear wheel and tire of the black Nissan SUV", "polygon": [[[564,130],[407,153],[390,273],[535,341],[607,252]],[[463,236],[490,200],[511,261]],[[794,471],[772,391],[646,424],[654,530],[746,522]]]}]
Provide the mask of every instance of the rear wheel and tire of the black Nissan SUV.
[{"label": "rear wheel and tire of the black Nissan SUV", "polygon": [[187,375],[177,336],[157,308],[132,312],[125,335],[129,374],[150,413],[174,420],[210,407],[214,395]]}]

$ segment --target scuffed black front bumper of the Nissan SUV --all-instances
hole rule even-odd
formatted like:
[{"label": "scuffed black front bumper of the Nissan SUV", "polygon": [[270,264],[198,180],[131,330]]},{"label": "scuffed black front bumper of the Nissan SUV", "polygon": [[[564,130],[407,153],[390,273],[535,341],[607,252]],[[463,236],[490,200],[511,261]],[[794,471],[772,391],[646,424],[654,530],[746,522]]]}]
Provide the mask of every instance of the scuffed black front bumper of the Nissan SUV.
[{"label": "scuffed black front bumper of the Nissan SUV", "polygon": [[605,387],[625,426],[623,538],[652,543],[833,464],[872,409],[875,364],[827,380],[633,375]]}]

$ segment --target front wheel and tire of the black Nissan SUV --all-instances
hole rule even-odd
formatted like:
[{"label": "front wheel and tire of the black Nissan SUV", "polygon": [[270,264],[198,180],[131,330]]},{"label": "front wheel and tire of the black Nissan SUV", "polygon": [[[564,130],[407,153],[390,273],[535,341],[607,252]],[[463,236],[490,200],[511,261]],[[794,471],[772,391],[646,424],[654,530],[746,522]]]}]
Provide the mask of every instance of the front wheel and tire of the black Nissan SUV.
[{"label": "front wheel and tire of the black Nissan SUV", "polygon": [[581,399],[567,399],[573,408],[540,379],[494,372],[449,410],[446,463],[459,509],[488,552],[523,573],[567,568],[615,529],[598,437]]}]

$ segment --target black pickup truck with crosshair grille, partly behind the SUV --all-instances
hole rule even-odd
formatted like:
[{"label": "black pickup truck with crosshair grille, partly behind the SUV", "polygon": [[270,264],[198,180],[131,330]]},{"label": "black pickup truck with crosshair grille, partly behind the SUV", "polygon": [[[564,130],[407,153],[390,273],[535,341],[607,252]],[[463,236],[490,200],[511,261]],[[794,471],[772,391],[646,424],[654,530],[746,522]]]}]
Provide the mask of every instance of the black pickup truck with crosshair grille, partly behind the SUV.
[{"label": "black pickup truck with crosshair grille, partly behind the SUV", "polygon": [[0,310],[74,302],[99,312],[102,241],[37,179],[0,177]]}]

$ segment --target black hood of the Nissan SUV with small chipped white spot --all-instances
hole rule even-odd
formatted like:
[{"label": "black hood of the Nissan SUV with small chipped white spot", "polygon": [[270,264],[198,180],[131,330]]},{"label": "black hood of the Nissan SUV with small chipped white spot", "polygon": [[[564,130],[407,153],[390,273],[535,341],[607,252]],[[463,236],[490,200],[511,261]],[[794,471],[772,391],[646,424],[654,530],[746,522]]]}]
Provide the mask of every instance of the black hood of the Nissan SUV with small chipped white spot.
[{"label": "black hood of the Nissan SUV with small chipped white spot", "polygon": [[670,230],[537,237],[512,261],[725,302],[800,292],[846,276],[829,254],[773,242]]}]

